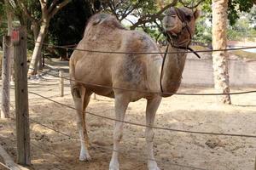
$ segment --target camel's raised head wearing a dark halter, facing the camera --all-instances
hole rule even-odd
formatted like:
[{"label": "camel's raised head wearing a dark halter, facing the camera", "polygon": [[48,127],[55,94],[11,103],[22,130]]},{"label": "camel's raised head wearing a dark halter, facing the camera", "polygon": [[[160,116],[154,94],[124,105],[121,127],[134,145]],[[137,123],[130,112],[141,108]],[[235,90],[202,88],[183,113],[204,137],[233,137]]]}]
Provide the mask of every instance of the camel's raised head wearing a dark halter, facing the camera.
[{"label": "camel's raised head wearing a dark halter, facing the camera", "polygon": [[198,19],[200,11],[190,8],[168,8],[162,24],[166,33],[172,37],[178,46],[188,46],[195,34],[195,20]]}]

